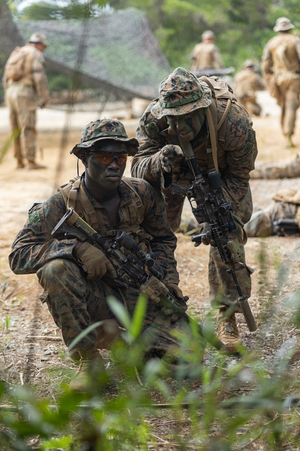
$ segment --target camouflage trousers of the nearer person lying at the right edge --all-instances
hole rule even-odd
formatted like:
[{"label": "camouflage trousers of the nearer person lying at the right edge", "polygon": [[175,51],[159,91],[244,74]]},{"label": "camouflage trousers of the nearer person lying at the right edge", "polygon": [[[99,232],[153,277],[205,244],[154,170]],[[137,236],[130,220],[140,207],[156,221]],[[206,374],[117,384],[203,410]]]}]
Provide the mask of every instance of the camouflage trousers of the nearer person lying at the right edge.
[{"label": "camouflage trousers of the nearer person lying at the right edge", "polygon": [[275,202],[254,212],[245,229],[248,236],[266,237],[273,235],[273,221],[294,219],[299,216],[300,190],[282,189],[273,197]]}]

